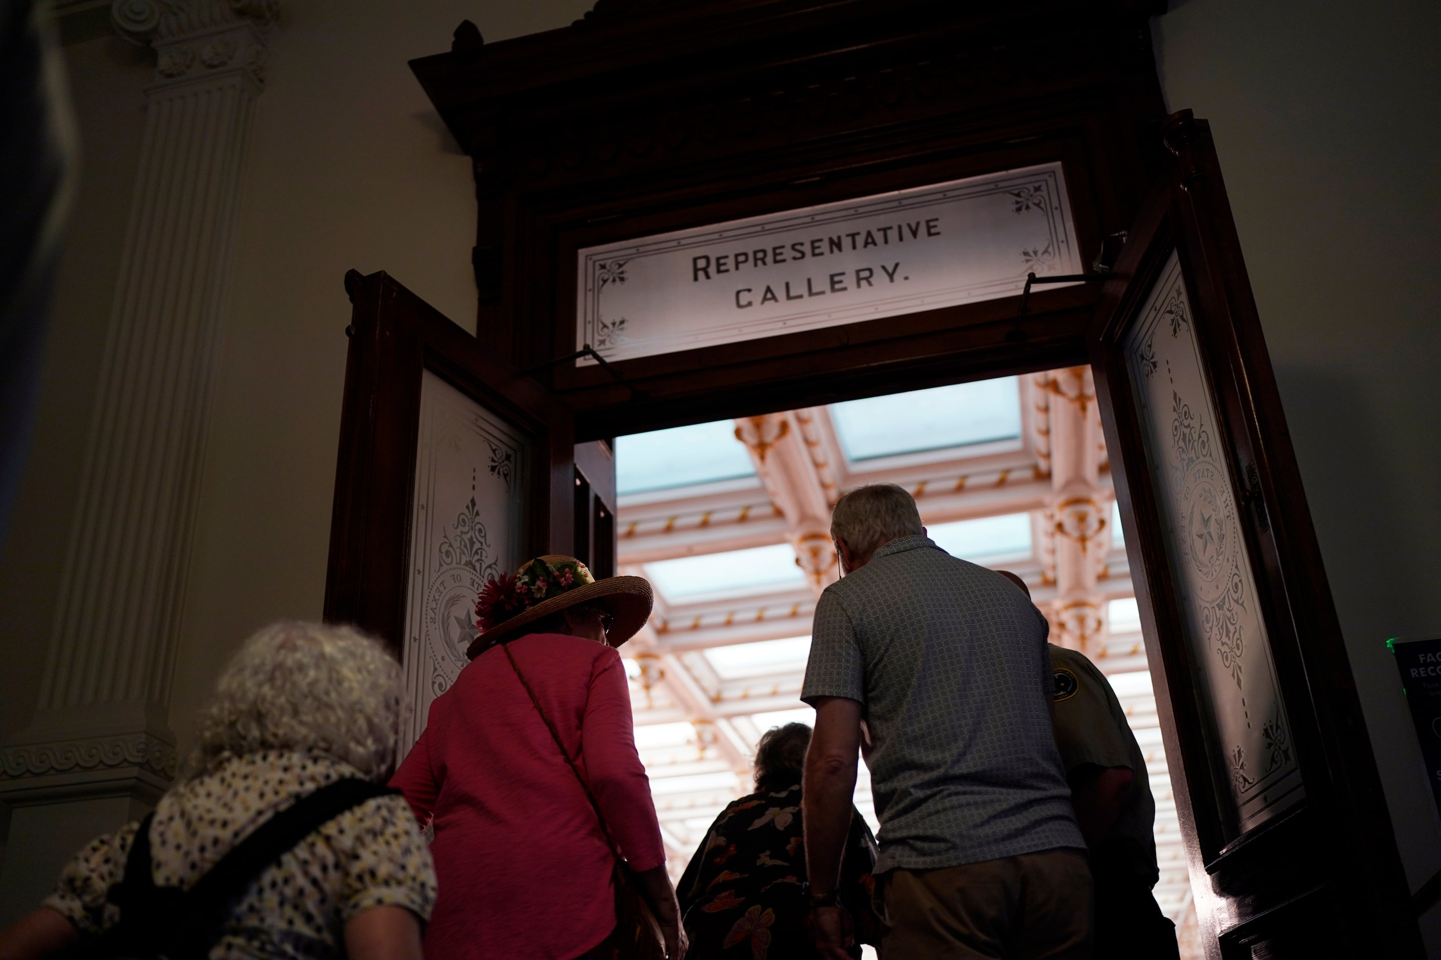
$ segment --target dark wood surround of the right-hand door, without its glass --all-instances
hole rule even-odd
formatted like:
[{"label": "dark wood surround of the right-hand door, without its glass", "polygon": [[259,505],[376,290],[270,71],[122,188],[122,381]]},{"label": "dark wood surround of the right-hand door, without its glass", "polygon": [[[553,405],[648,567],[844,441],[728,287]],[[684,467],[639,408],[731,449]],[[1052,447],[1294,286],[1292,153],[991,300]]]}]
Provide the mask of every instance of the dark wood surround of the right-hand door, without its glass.
[{"label": "dark wood surround of the right-hand door, without its glass", "polygon": [[[1222,901],[1265,865],[1288,885],[1248,889],[1246,902],[1228,904],[1206,933],[1222,957],[1249,957],[1249,944],[1281,930],[1355,936],[1336,911],[1386,918],[1383,933],[1362,940],[1385,944],[1386,956],[1419,951],[1415,918],[1389,809],[1320,544],[1306,504],[1259,315],[1216,161],[1210,128],[1190,111],[1170,118],[1166,145],[1176,160],[1166,170],[1107,282],[1092,327],[1091,368],[1101,402],[1111,474],[1125,517],[1131,579],[1140,603],[1164,746],[1172,764],[1177,813],[1187,835],[1193,882],[1206,878]],[[1172,563],[1164,556],[1161,511],[1151,482],[1134,482],[1125,463],[1144,462],[1137,406],[1125,361],[1115,348],[1134,312],[1150,296],[1170,252],[1179,255],[1186,291],[1200,322],[1196,335],[1215,386],[1216,442],[1226,449],[1231,488],[1239,495],[1241,535],[1257,571],[1257,602],[1267,646],[1291,717],[1306,800],[1239,836],[1228,836],[1229,790],[1218,783],[1202,715],[1203,697],[1190,679],[1203,675],[1185,642]],[[1153,597],[1163,597],[1153,603]],[[1179,708],[1185,707],[1185,708]],[[1210,800],[1210,803],[1208,803]],[[1297,849],[1297,835],[1324,838],[1336,823],[1344,836],[1321,848]],[[1290,830],[1288,839],[1281,839]],[[1278,864],[1282,865],[1278,868]],[[1334,884],[1359,895],[1340,902]],[[1327,920],[1329,918],[1329,920]]]}]

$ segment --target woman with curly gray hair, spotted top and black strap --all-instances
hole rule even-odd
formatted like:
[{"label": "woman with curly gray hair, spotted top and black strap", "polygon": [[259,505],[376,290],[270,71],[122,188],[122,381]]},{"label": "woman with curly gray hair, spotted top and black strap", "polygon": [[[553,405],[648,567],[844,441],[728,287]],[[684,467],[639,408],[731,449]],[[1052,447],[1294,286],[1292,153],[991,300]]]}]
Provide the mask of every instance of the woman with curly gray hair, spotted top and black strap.
[{"label": "woman with curly gray hair, spotted top and black strap", "polygon": [[108,956],[419,960],[435,871],[405,799],[376,786],[398,672],[344,626],[251,636],[156,812],[81,851],[0,959],[101,937]]}]

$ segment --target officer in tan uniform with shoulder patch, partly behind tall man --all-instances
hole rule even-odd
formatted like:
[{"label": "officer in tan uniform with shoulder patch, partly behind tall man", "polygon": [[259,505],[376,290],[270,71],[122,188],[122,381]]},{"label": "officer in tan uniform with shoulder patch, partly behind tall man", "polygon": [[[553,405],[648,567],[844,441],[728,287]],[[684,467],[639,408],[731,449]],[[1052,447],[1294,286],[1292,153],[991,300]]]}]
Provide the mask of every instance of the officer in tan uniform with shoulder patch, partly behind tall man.
[{"label": "officer in tan uniform with shoulder patch, partly behind tall man", "polygon": [[[1020,577],[1001,573],[1030,594]],[[1146,754],[1125,721],[1121,701],[1095,664],[1079,651],[1046,646],[1056,682],[1056,747],[1095,878],[1092,956],[1177,960],[1176,925],[1151,895],[1160,871]]]}]

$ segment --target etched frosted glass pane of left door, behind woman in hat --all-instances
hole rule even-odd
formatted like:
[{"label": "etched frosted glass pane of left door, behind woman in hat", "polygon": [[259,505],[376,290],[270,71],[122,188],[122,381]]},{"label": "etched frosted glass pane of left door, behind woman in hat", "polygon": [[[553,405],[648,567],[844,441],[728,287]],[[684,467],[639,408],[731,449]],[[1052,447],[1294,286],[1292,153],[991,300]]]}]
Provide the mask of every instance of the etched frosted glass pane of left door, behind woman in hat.
[{"label": "etched frosted glass pane of left door, behind woman in hat", "polygon": [[468,662],[476,597],[520,566],[529,440],[429,370],[421,383],[405,599],[402,754]]}]

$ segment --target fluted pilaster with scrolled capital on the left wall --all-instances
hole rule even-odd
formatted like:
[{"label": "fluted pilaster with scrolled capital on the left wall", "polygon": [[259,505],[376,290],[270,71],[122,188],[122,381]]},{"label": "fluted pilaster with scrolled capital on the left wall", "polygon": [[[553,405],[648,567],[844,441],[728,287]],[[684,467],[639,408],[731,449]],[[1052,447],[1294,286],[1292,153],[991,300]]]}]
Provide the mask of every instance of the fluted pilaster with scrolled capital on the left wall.
[{"label": "fluted pilaster with scrolled capital on the left wall", "polygon": [[[0,794],[153,794],[232,261],[236,193],[275,0],[115,0],[157,55],[39,710]],[[22,797],[22,802],[26,802]]]}]

